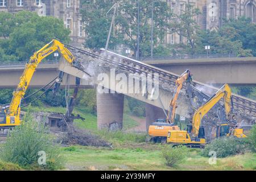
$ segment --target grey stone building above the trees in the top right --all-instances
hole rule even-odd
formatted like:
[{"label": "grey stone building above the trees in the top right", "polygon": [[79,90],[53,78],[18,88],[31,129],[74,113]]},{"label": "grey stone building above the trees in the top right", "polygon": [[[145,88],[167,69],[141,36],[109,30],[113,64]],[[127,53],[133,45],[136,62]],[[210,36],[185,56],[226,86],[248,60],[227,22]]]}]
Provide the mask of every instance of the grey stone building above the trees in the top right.
[{"label": "grey stone building above the trees in the top right", "polygon": [[[251,18],[256,23],[256,0],[163,0],[167,1],[175,14],[185,10],[185,4],[190,3],[200,9],[201,14],[195,17],[202,29],[218,30],[224,19],[236,19],[239,16]],[[168,31],[167,31],[168,32]],[[166,35],[166,44],[185,43],[185,38],[175,34]]]}]

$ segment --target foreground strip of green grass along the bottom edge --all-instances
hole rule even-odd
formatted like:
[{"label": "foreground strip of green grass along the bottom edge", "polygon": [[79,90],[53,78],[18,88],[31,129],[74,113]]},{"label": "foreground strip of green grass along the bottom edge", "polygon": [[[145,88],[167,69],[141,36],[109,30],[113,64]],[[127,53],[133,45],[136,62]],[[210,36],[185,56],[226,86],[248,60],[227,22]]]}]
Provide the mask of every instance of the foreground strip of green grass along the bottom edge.
[{"label": "foreground strip of green grass along the bottom edge", "polygon": [[182,164],[167,167],[162,152],[156,144],[108,148],[75,146],[75,151],[64,150],[67,169],[77,170],[255,170],[256,154],[246,153],[230,158],[217,159],[216,165],[209,158],[200,156],[200,149],[190,150]]}]

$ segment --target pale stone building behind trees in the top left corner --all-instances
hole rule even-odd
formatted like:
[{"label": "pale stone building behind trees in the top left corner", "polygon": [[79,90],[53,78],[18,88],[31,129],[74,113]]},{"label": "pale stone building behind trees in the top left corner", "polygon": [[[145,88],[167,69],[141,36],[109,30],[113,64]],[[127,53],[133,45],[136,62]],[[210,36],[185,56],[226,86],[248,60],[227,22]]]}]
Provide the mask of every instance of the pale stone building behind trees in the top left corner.
[{"label": "pale stone building behind trees in the top left corner", "polygon": [[0,11],[35,11],[40,16],[63,19],[65,26],[71,30],[72,44],[77,46],[85,40],[80,8],[80,0],[0,0]]}]

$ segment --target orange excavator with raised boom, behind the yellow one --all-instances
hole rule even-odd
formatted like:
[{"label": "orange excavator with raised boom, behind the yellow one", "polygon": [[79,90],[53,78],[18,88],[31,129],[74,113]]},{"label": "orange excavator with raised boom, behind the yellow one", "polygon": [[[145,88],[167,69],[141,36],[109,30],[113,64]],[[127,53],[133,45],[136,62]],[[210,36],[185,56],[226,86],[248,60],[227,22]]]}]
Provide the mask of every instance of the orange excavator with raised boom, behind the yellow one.
[{"label": "orange excavator with raised boom, behind the yellow one", "polygon": [[176,114],[177,98],[185,81],[192,81],[192,74],[189,69],[182,73],[175,82],[175,92],[172,96],[166,119],[157,119],[156,122],[152,123],[152,125],[148,127],[148,135],[150,135],[150,141],[155,143],[165,143],[169,130],[180,130],[179,126],[174,125],[174,119]]}]

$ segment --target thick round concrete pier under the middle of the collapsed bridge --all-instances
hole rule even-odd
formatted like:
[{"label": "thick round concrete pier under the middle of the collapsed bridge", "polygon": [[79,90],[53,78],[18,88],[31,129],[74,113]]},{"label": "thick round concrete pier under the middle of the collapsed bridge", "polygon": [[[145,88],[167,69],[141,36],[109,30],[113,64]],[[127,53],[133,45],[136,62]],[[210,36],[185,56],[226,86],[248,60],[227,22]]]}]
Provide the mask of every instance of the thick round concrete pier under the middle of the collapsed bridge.
[{"label": "thick round concrete pier under the middle of the collapsed bridge", "polygon": [[123,127],[123,94],[97,92],[97,126],[110,131]]}]

